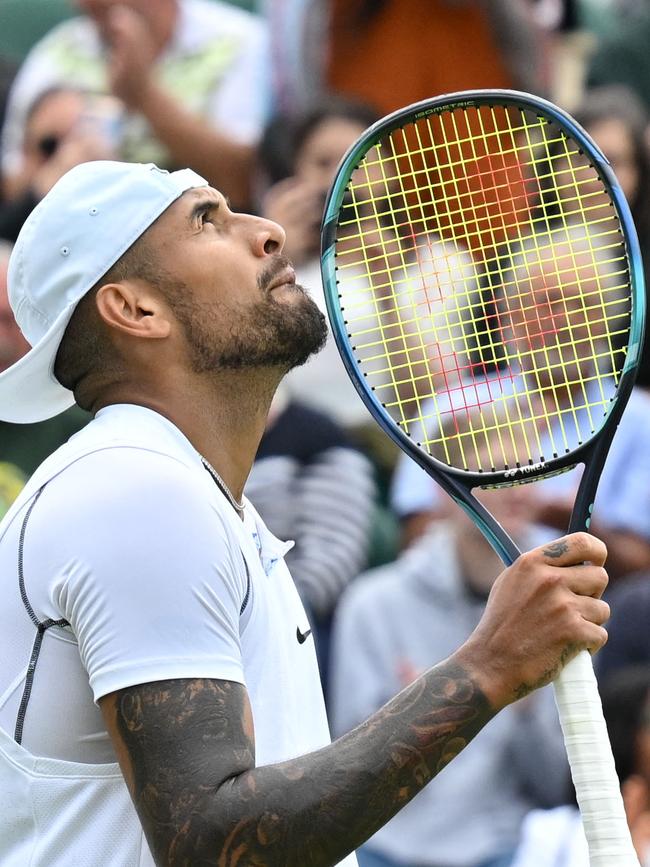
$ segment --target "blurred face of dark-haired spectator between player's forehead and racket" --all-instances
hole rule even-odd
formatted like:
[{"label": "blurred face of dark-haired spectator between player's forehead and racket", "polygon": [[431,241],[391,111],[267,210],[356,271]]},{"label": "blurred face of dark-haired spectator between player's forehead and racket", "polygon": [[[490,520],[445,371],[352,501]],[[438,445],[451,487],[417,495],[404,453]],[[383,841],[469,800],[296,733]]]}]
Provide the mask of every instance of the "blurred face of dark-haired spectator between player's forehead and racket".
[{"label": "blurred face of dark-haired spectator between player's forehead and racket", "polygon": [[365,127],[342,117],[322,120],[307,136],[296,157],[295,174],[326,190],[344,153]]}]

